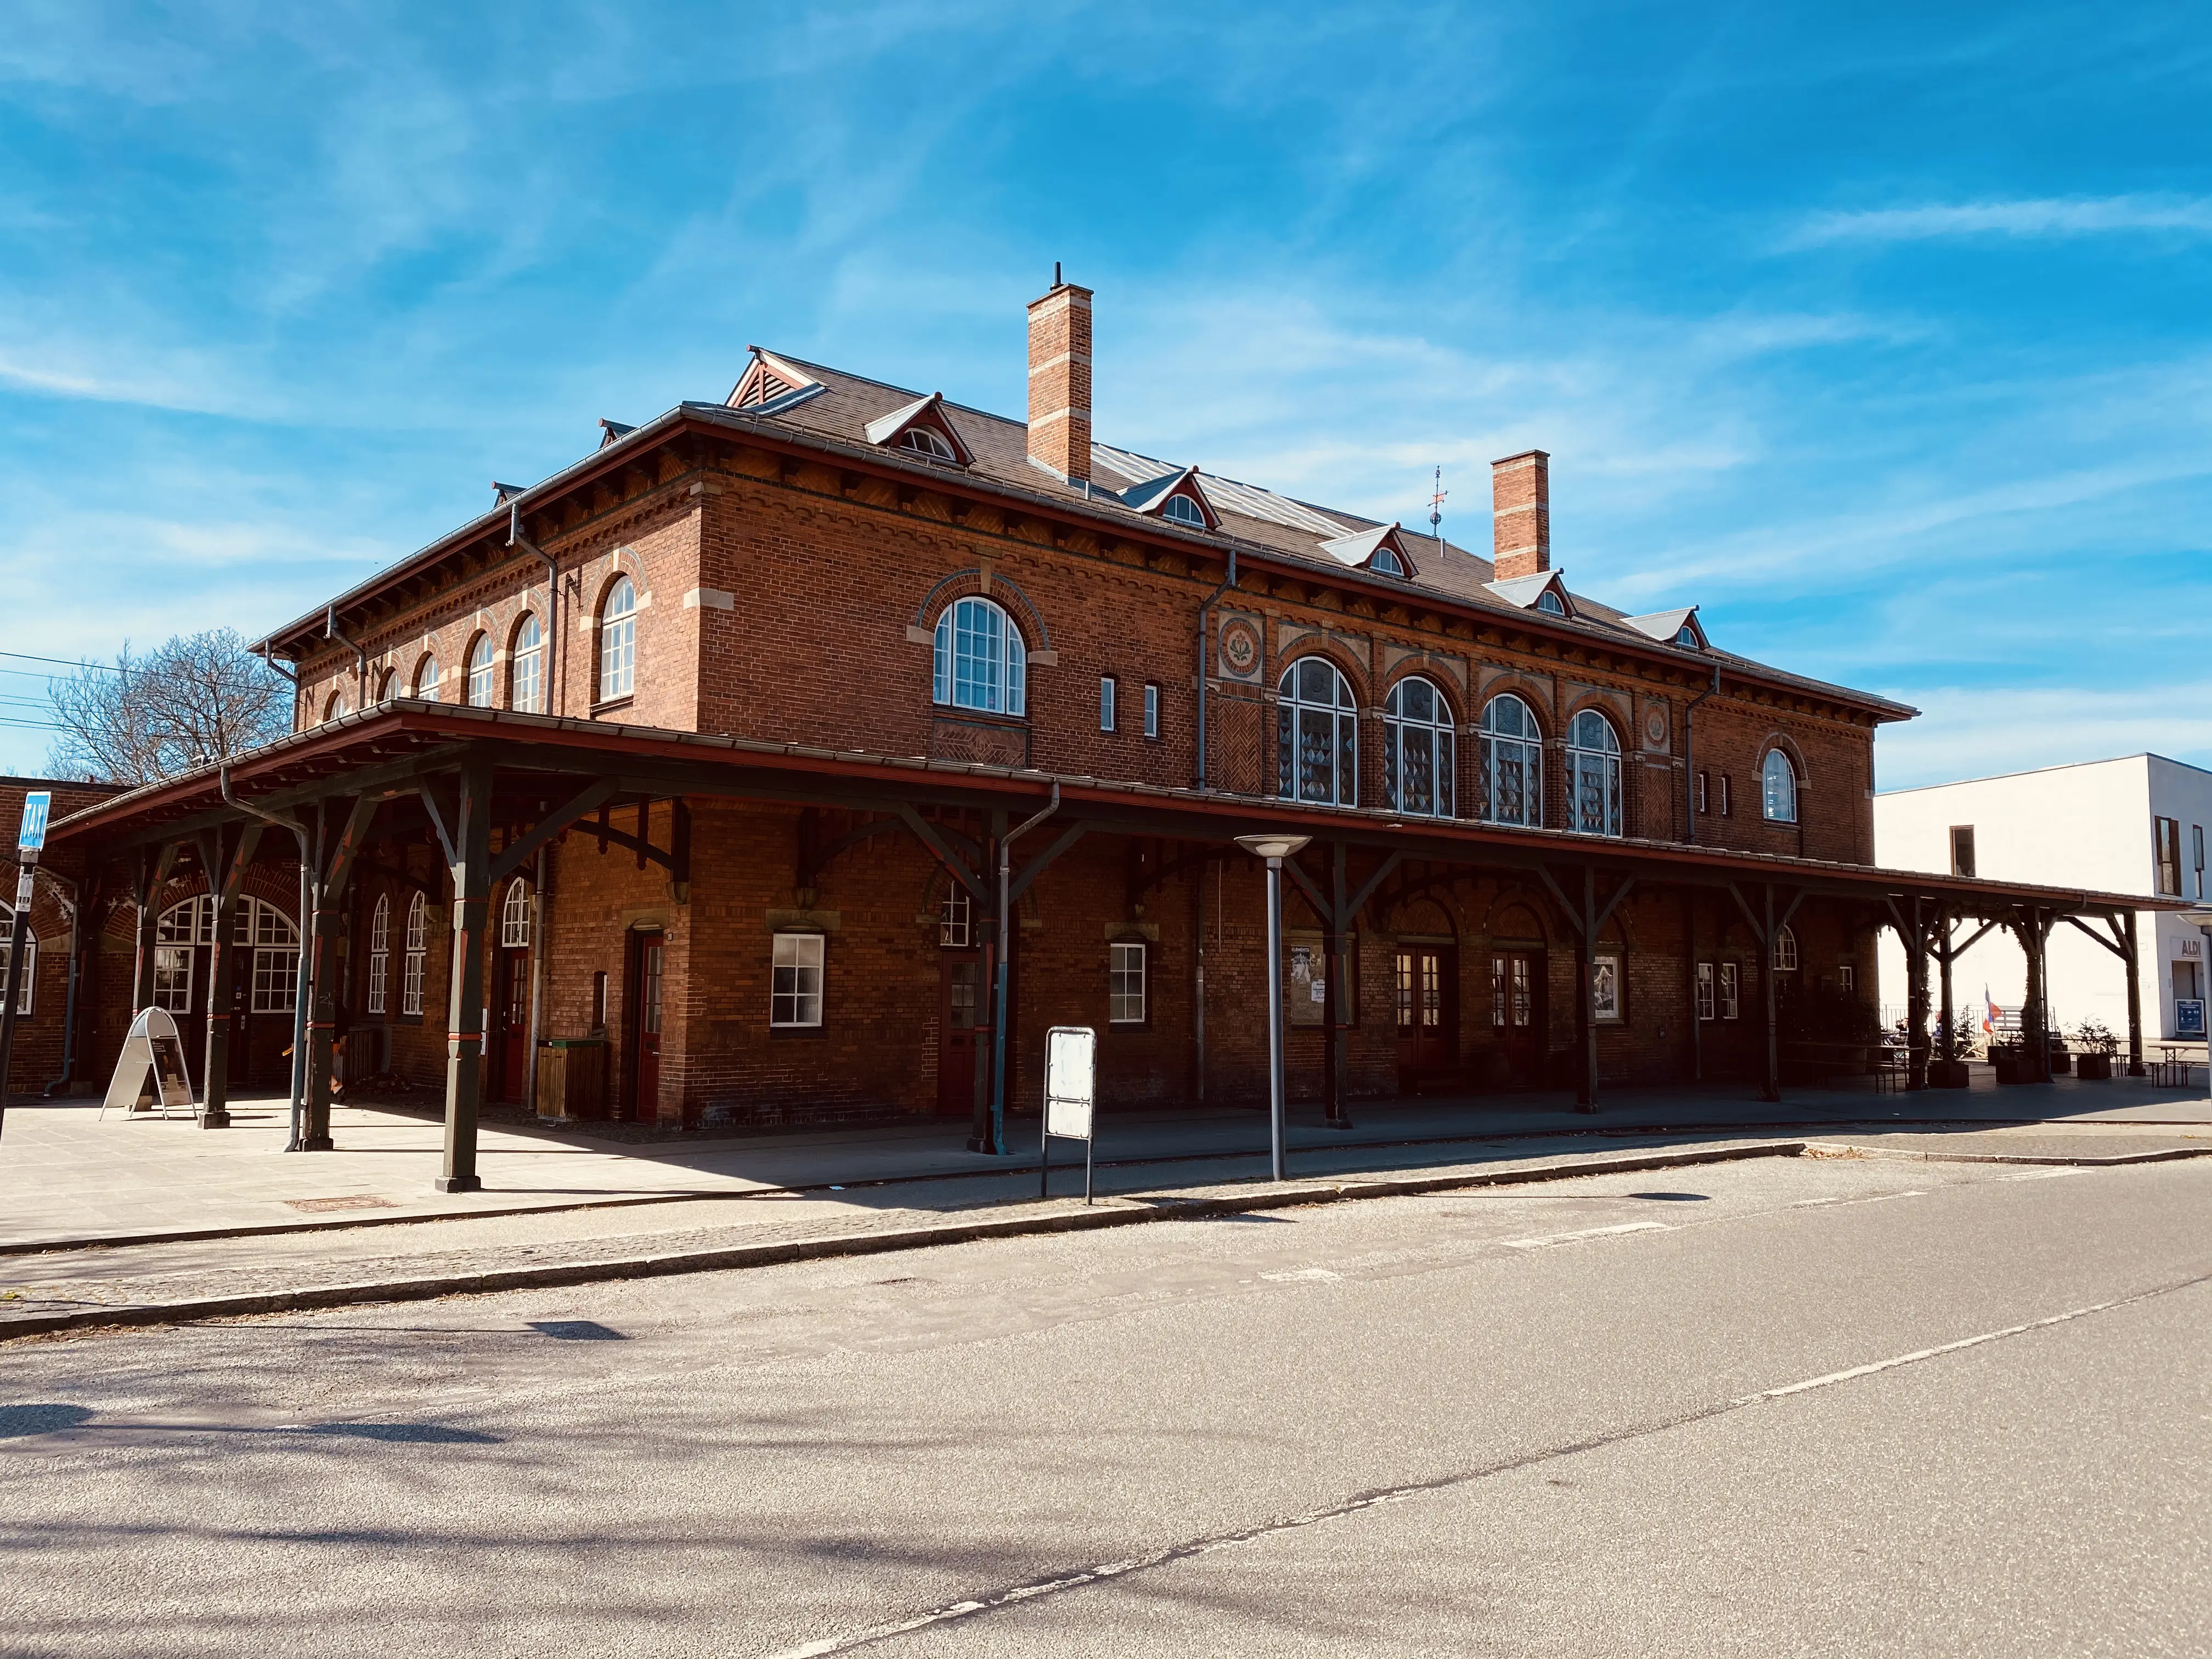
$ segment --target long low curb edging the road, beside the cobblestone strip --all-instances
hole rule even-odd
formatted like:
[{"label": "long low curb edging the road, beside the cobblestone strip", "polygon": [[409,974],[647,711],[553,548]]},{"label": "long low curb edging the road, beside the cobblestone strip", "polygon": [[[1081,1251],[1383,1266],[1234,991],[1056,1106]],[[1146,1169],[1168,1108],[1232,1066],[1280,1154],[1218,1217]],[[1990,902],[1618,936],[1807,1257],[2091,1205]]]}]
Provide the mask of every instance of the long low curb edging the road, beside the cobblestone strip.
[{"label": "long low curb edging the road, beside the cobblestone strip", "polygon": [[1754,1157],[1798,1157],[1801,1152],[1805,1152],[1805,1141],[1759,1141],[1750,1146],[1692,1148],[1686,1152],[1644,1152],[1635,1157],[1593,1157],[1582,1161],[1533,1164],[1513,1170],[1314,1181],[1217,1197],[1179,1197],[1172,1192],[1157,1197],[1113,1197],[1084,1210],[971,1217],[960,1221],[936,1221],[922,1228],[849,1232],[830,1239],[785,1239],[776,1243],[741,1243],[717,1250],[615,1256],[608,1261],[555,1261],[531,1267],[498,1267],[476,1274],[385,1279],[354,1285],[307,1285],[301,1290],[272,1290],[248,1296],[199,1296],[175,1303],[86,1307],[73,1314],[33,1314],[29,1318],[0,1318],[0,1343],[18,1336],[49,1336],[55,1332],[119,1325],[186,1325],[208,1318],[292,1314],[316,1307],[352,1307],[361,1303],[431,1301],[436,1296],[482,1296],[500,1290],[586,1285],[608,1279],[657,1279],[668,1274],[726,1272],[732,1267],[774,1267],[787,1261],[874,1256],[894,1250],[929,1250],[931,1245],[971,1243],[978,1239],[1020,1239],[1046,1232],[1095,1232],[1099,1228],[1130,1228],[1146,1221],[1188,1221],[1190,1217],[1206,1214],[1294,1210],[1314,1203],[1340,1203],[1347,1199],[1396,1199],[1420,1192],[1455,1192],[1482,1186],[1526,1186],[1535,1181],[1566,1181],[1582,1175],[1679,1170],[1697,1164],[1736,1164]]}]

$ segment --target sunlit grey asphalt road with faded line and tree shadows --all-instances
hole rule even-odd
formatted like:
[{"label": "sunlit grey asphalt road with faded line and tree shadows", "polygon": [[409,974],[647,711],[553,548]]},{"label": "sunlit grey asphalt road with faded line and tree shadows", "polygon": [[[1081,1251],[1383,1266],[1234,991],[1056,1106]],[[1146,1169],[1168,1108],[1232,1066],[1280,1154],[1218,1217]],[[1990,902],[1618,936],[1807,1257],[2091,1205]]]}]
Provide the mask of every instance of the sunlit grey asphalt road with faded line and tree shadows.
[{"label": "sunlit grey asphalt road with faded line and tree shadows", "polygon": [[0,1652],[2212,1652],[2208,1201],[1776,1159],[11,1343]]}]

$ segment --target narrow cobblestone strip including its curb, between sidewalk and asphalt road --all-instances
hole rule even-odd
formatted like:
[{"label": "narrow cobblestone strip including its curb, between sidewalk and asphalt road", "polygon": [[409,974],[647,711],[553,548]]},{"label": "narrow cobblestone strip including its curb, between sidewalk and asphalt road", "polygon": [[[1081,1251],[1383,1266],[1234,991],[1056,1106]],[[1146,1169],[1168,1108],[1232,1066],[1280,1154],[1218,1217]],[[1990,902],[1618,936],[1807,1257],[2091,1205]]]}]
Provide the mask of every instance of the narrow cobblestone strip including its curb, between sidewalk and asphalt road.
[{"label": "narrow cobblestone strip including its curb, between sidewalk and asphalt road", "polygon": [[1290,1210],[1347,1199],[1385,1199],[1420,1192],[1451,1192],[1480,1186],[1522,1186],[1586,1175],[1668,1170],[1694,1164],[1730,1164],[1752,1157],[1798,1157],[1805,1141],[1736,1141],[1679,1152],[1639,1152],[1526,1159],[1486,1164],[1480,1170],[1416,1170],[1391,1177],[1340,1177],[1283,1186],[1208,1186],[1161,1192],[1124,1192],[1084,1206],[1079,1199],[991,1203],[947,1214],[942,1210],[874,1212],[867,1221],[759,1221],[734,1228],[699,1228],[655,1237],[650,1252],[639,1239],[580,1239],[573,1243],[489,1245],[438,1254],[389,1256],[347,1263],[343,1283],[294,1283],[312,1263],[270,1263],[144,1281],[100,1281],[86,1285],[22,1285],[0,1301],[0,1340],[102,1325],[179,1325],[201,1318],[283,1314],[310,1307],[427,1301],[434,1296],[487,1294],[551,1285],[582,1285],[608,1279],[648,1279],[730,1267],[768,1267],[825,1256],[865,1256],[889,1250],[927,1250],[975,1239],[1013,1239],[1044,1232],[1086,1232],[1146,1221],[1177,1221],[1203,1214]]}]

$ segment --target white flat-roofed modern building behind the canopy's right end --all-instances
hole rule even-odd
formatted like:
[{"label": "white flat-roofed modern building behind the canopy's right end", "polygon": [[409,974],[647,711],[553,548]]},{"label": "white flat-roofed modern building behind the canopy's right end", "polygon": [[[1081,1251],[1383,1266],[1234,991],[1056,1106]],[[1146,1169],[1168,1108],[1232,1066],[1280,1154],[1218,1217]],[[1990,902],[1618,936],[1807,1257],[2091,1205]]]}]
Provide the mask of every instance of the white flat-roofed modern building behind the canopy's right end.
[{"label": "white flat-roofed modern building behind the canopy's right end", "polygon": [[[1874,796],[1874,860],[1887,869],[2095,887],[2110,894],[2205,896],[2212,772],[2163,754],[2053,765]],[[2137,971],[2146,1042],[2205,1035],[2205,936],[2166,911],[2137,911]],[[1905,1002],[1905,947],[1885,929],[1882,1000]],[[2084,1020],[2128,1031],[2126,969],[2073,927],[2051,933],[2051,1031]],[[2004,1009],[2026,1000],[2020,942],[1989,933],[1960,956],[1953,995],[1966,1022],[1986,993]]]}]

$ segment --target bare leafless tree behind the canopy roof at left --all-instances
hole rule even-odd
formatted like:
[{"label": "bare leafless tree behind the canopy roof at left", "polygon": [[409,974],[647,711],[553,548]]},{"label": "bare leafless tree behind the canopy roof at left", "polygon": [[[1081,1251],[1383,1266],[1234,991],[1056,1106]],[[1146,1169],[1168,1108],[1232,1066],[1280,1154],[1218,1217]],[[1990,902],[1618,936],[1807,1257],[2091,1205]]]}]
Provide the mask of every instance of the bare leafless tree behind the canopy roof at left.
[{"label": "bare leafless tree behind the canopy roof at left", "polygon": [[177,635],[146,657],[86,664],[46,690],[55,776],[155,783],[292,730],[292,686],[232,628]]}]

